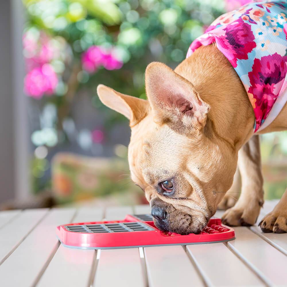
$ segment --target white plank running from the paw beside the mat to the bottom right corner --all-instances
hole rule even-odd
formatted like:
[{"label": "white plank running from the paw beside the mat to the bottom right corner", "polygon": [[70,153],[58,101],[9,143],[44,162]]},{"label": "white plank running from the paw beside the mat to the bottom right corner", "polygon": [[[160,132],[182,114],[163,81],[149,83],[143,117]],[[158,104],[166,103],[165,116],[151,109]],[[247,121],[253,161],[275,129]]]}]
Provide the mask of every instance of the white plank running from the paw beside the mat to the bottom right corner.
[{"label": "white plank running from the paw beside the mat to the bottom right corner", "polygon": [[227,245],[269,285],[286,284],[287,257],[246,227]]}]

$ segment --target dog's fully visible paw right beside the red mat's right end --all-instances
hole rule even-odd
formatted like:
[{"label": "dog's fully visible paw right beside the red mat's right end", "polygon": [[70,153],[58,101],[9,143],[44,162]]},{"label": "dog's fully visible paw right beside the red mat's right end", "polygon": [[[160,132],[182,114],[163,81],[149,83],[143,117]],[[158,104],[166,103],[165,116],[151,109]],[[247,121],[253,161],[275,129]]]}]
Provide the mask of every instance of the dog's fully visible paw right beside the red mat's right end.
[{"label": "dog's fully visible paw right beside the red mat's right end", "polygon": [[253,208],[229,208],[222,216],[222,223],[229,226],[251,226],[255,224],[261,206]]}]

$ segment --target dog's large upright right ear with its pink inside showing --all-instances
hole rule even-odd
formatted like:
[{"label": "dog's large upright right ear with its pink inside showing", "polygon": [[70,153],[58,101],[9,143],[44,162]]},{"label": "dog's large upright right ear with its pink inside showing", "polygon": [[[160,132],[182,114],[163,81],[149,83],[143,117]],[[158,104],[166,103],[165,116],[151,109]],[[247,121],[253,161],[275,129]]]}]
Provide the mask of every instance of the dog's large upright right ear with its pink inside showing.
[{"label": "dog's large upright right ear with its pink inside showing", "polygon": [[153,62],[146,68],[146,92],[158,124],[185,134],[205,125],[209,104],[191,82],[163,63]]}]

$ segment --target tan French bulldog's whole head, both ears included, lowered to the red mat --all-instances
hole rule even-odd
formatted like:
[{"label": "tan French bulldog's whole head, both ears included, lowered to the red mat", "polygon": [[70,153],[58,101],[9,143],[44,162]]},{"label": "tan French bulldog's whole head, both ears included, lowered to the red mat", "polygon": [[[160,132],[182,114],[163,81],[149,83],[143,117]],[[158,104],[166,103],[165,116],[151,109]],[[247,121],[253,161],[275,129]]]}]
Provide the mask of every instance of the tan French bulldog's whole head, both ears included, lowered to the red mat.
[{"label": "tan French bulldog's whole head, both ears included, lowered to the red mat", "polygon": [[156,226],[198,233],[232,184],[237,152],[213,135],[209,104],[166,65],[147,67],[146,93],[148,101],[98,86],[101,101],[130,120],[131,178]]}]

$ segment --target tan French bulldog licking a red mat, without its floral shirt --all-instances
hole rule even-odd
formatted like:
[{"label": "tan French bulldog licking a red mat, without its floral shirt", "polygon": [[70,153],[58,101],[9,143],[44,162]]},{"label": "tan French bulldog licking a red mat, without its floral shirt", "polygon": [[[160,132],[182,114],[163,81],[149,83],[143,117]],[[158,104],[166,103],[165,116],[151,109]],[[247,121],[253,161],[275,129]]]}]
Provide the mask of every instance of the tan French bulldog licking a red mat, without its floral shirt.
[{"label": "tan French bulldog licking a red mat, without its floral shirt", "polygon": [[[147,100],[103,85],[98,95],[130,120],[132,180],[146,194],[158,228],[199,232],[232,186],[238,164],[242,192],[223,216],[252,225],[263,205],[263,179],[254,112],[241,80],[214,45],[198,48],[174,71],[146,69]],[[236,95],[236,96],[230,96]],[[287,105],[260,133],[287,129]],[[287,232],[287,191],[261,222],[264,232]]]}]

